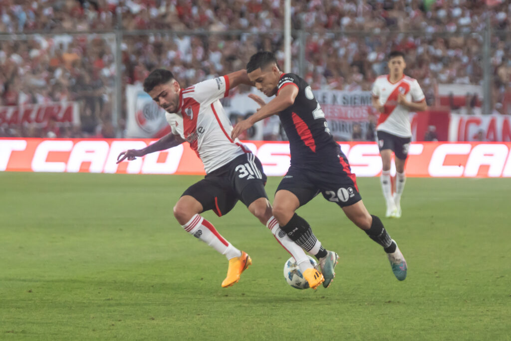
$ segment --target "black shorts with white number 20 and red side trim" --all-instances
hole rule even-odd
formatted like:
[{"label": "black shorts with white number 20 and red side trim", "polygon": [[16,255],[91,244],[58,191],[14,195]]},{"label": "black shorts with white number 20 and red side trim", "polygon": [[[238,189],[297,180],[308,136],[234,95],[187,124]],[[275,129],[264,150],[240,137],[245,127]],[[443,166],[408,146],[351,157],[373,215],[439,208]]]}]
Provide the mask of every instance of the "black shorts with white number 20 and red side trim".
[{"label": "black shorts with white number 20 and red side trim", "polygon": [[280,190],[288,190],[296,195],[300,206],[305,205],[319,193],[340,207],[350,206],[362,200],[355,174],[351,172],[350,165],[342,154],[336,162],[320,164],[317,169],[289,167],[277,187],[277,192]]}]

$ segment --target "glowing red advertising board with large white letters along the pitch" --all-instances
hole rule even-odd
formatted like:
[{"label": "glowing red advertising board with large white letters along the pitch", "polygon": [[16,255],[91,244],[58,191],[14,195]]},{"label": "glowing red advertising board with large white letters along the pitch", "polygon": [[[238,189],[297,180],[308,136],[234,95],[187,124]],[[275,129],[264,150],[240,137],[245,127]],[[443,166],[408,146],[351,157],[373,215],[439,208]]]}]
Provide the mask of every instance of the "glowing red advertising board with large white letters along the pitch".
[{"label": "glowing red advertising board with large white letters along the pitch", "polygon": [[[204,174],[188,144],[117,165],[127,149],[155,140],[0,139],[0,171],[130,174]],[[289,167],[287,142],[244,142],[267,175],[283,176]],[[376,143],[340,144],[357,176],[381,174]],[[406,166],[415,177],[511,177],[511,143],[412,143]]]}]

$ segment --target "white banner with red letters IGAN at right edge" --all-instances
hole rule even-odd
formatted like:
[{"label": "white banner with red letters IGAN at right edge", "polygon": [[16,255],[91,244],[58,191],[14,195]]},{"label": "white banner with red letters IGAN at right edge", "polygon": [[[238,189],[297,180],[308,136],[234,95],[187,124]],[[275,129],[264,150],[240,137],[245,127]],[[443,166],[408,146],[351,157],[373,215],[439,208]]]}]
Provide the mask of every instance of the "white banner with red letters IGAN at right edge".
[{"label": "white banner with red letters IGAN at right edge", "polygon": [[449,141],[511,142],[511,115],[451,114]]}]

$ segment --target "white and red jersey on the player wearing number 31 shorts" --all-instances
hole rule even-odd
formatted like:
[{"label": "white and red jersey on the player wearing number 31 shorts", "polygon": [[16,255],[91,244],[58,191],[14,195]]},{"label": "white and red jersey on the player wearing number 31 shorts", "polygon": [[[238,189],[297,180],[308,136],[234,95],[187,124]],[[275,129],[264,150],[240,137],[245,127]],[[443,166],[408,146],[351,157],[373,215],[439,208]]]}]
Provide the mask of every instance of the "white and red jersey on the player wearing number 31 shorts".
[{"label": "white and red jersey on the player wearing number 31 shorts", "polygon": [[206,173],[249,152],[238,139],[230,138],[230,124],[220,98],[229,94],[227,76],[205,80],[181,89],[177,113],[165,114],[174,135],[190,143]]}]

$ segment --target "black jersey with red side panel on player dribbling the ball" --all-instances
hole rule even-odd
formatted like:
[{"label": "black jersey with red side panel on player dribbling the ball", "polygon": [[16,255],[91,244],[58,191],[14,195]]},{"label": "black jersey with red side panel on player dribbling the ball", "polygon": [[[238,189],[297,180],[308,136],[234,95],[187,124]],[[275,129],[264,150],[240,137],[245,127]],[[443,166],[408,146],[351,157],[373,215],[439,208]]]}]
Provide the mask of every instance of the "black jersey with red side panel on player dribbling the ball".
[{"label": "black jersey with red side panel on player dribbling the ball", "polygon": [[332,138],[311,86],[298,75],[283,74],[277,96],[285,86],[298,88],[294,103],[278,114],[289,139],[291,165],[318,168],[324,163],[338,162],[341,150]]}]

